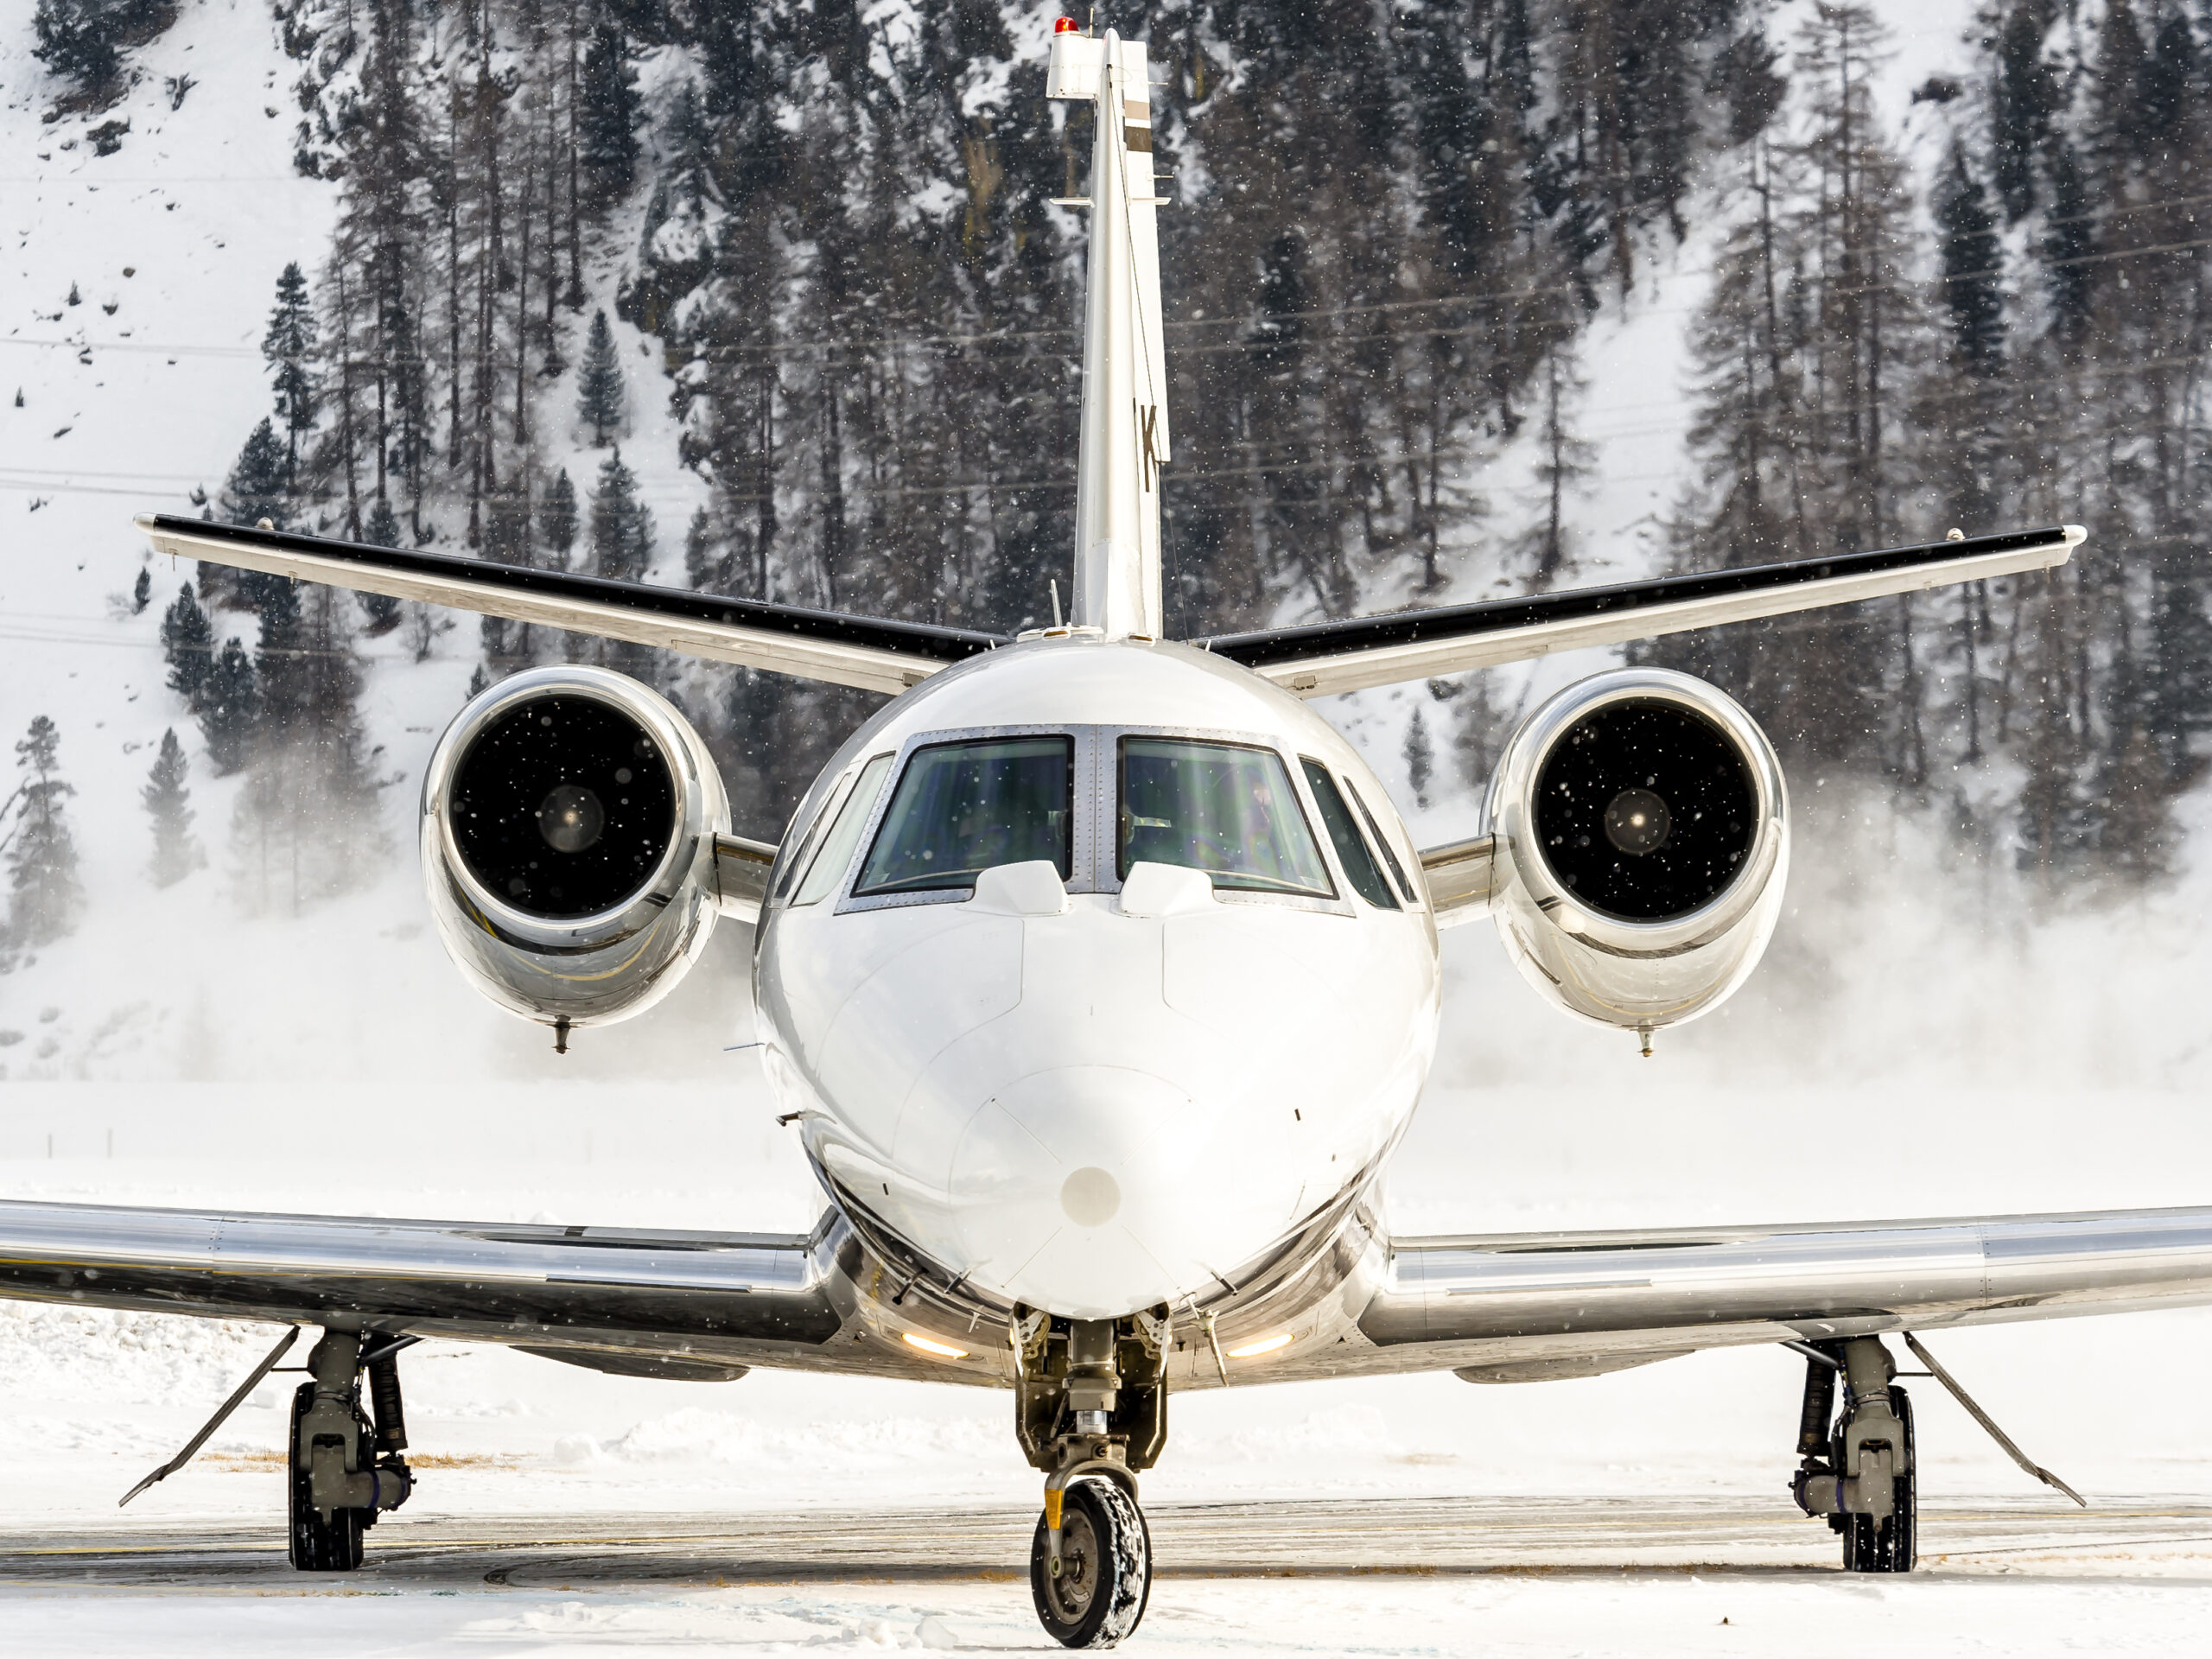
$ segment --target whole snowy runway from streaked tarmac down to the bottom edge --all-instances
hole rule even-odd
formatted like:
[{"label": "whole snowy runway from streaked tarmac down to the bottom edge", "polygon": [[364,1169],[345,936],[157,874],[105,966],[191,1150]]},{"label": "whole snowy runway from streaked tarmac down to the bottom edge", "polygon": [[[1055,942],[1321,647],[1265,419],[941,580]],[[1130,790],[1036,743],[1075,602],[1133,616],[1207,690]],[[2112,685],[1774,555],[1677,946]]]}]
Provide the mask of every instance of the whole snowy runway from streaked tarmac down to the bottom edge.
[{"label": "whole snowy runway from streaked tarmac down to the bottom edge", "polygon": [[[303,1582],[261,1526],[0,1535],[0,1650],[321,1655],[1037,1650],[1006,1506],[387,1520]],[[1130,1652],[2183,1652],[2212,1504],[2044,1498],[1922,1515],[1927,1571],[1845,1577],[1781,1502],[1164,1504]]]}]

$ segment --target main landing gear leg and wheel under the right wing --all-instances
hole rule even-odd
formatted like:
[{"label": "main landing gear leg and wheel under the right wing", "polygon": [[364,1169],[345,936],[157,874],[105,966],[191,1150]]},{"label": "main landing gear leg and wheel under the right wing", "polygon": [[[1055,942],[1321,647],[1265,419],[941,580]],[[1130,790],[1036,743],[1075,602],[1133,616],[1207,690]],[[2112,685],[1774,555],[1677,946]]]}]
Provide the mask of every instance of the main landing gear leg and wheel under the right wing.
[{"label": "main landing gear leg and wheel under the right wing", "polygon": [[1790,1495],[1798,1509],[1825,1515],[1843,1535],[1845,1573],[1911,1573],[1920,1559],[1913,1402],[1891,1380],[1898,1367],[1878,1336],[1807,1343],[1801,1352],[1803,1462],[1790,1482]]}]

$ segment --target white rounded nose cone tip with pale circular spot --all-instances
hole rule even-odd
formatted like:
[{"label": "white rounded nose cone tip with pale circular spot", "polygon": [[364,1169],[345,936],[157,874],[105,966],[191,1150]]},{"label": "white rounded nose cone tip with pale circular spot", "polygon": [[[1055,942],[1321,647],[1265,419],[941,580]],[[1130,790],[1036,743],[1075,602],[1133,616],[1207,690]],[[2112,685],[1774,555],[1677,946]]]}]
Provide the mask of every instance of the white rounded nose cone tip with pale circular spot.
[{"label": "white rounded nose cone tip with pale circular spot", "polygon": [[1146,1071],[1062,1066],[1002,1088],[951,1166],[978,1283],[1068,1318],[1172,1303],[1261,1250],[1296,1192],[1223,1181],[1214,1128]]}]

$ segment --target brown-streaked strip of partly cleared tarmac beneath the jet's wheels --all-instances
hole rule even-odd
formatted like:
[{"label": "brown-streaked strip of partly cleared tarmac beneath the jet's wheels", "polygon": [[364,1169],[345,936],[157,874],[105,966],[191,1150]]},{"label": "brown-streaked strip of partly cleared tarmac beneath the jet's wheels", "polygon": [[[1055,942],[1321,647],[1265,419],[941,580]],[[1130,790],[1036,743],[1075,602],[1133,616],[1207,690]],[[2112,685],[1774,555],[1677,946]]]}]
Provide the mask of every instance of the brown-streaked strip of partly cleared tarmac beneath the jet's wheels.
[{"label": "brown-streaked strip of partly cleared tarmac beneath the jet's wheels", "polygon": [[[1345,1498],[1159,1504],[1164,1579],[1391,1575],[1801,1575],[1838,1546],[1787,1502],[1743,1498]],[[925,1584],[1022,1579],[1035,1515],[1013,1509],[810,1509],[712,1517],[389,1515],[349,1588]],[[1978,1500],[1920,1511],[1940,1573],[2166,1573],[2212,1579],[2212,1504]],[[303,1588],[279,1524],[126,1524],[0,1533],[0,1586]]]}]

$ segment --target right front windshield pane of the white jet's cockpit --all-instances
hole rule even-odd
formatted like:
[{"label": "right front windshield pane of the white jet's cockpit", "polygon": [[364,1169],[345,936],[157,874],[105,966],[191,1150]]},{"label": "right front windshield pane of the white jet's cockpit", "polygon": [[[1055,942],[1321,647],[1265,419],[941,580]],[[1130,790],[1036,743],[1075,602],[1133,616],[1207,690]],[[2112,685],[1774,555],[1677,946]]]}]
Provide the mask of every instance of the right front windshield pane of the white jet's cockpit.
[{"label": "right front windshield pane of the white jet's cockpit", "polygon": [[1336,896],[1274,750],[1124,737],[1117,841],[1124,880],[1155,863],[1203,869],[1221,889]]}]

